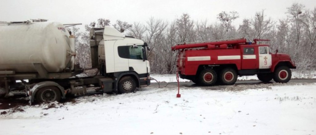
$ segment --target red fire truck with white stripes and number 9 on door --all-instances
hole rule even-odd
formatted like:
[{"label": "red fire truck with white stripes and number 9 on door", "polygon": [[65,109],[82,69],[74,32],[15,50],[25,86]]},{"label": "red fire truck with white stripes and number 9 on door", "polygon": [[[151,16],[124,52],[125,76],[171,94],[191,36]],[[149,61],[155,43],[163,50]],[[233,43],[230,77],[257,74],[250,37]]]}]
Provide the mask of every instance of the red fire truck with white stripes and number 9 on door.
[{"label": "red fire truck with white stripes and number 9 on door", "polygon": [[177,68],[180,78],[210,86],[231,85],[237,76],[255,75],[263,82],[274,79],[287,83],[291,79],[290,68],[295,63],[287,54],[271,53],[269,45],[257,44],[255,39],[216,40],[199,43],[183,43],[172,46],[178,50]]}]

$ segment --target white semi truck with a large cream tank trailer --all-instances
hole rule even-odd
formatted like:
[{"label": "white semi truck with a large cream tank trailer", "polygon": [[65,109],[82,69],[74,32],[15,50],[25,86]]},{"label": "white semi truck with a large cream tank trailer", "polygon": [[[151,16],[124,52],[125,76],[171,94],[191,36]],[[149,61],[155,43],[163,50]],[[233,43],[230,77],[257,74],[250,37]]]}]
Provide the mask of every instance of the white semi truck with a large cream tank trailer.
[{"label": "white semi truck with a large cream tank trailer", "polygon": [[100,87],[104,93],[128,93],[150,85],[146,42],[111,27],[92,28],[90,48],[92,68],[98,74],[74,77],[82,69],[75,63],[75,37],[63,24],[2,22],[0,96],[25,89],[31,102],[53,102],[66,94],[84,95],[90,86]]}]

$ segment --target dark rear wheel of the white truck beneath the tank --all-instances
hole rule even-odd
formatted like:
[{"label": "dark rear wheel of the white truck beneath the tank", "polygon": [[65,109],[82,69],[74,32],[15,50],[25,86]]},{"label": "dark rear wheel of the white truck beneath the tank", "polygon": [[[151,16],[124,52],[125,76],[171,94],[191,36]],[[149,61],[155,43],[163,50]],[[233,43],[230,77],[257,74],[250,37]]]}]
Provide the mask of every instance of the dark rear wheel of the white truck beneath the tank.
[{"label": "dark rear wheel of the white truck beneath the tank", "polygon": [[59,102],[61,99],[61,93],[60,90],[55,86],[46,86],[40,88],[36,92],[35,99],[38,102]]}]

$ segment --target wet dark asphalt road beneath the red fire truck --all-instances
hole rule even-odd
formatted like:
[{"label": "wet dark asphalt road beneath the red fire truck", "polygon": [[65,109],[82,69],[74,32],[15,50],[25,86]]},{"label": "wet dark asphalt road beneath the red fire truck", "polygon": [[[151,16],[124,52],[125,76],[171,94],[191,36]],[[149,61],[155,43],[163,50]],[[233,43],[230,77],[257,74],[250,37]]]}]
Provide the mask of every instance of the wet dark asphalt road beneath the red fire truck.
[{"label": "wet dark asphalt road beneath the red fire truck", "polygon": [[[236,85],[252,85],[252,84],[271,84],[271,83],[276,83],[273,80],[268,83],[261,82],[259,80],[254,80],[254,81],[237,81],[235,84]],[[316,79],[291,79],[289,83],[316,83]],[[164,87],[168,83],[151,83],[150,86],[148,87]],[[223,89],[226,88],[229,85],[215,85],[215,86],[197,86],[193,82],[180,82],[180,87],[207,87],[207,89]],[[178,83],[169,83],[167,88],[174,88],[178,87]]]}]

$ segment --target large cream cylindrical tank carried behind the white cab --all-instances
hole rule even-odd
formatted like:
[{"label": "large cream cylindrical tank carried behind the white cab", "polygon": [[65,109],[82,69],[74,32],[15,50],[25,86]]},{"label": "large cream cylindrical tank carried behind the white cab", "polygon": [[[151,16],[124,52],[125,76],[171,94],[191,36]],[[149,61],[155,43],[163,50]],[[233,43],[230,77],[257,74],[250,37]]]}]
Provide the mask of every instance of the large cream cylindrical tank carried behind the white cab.
[{"label": "large cream cylindrical tank carried behind the white cab", "polygon": [[63,24],[35,22],[0,24],[0,71],[36,73],[34,63],[58,73],[74,65],[70,34]]}]

